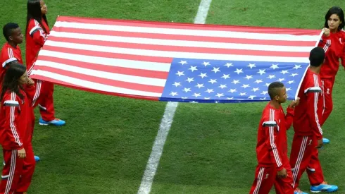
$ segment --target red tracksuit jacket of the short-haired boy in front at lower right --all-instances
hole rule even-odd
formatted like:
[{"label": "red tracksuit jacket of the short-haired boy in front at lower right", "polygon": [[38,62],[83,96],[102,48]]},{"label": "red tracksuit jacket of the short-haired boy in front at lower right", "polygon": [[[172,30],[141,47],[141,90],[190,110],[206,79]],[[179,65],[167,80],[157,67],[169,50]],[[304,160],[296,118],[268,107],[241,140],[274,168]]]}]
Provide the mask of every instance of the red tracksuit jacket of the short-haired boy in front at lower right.
[{"label": "red tracksuit jacket of the short-haired boy in front at lower right", "polygon": [[287,164],[287,130],[292,124],[294,109],[275,109],[267,104],[258,127],[256,156],[260,166],[276,166],[280,171]]}]

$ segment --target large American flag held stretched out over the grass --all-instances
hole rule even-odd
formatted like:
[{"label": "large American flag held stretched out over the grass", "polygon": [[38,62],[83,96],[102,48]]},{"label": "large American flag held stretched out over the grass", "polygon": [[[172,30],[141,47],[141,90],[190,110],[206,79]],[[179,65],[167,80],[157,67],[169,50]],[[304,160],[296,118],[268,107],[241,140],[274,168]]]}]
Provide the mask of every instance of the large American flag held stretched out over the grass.
[{"label": "large American flag held stretched out over the grass", "polygon": [[32,78],[110,95],[175,102],[294,99],[320,30],[59,16]]}]

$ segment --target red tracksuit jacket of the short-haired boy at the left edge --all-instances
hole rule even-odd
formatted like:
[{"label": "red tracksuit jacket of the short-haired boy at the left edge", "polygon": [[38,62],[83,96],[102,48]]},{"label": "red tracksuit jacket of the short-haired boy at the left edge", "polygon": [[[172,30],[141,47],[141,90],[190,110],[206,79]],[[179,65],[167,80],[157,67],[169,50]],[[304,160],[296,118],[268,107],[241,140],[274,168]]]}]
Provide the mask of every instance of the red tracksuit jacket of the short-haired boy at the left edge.
[{"label": "red tracksuit jacket of the short-haired boy at the left edge", "polygon": [[1,49],[0,83],[2,83],[6,69],[8,68],[6,65],[12,61],[18,61],[19,63],[23,64],[22,51],[18,45],[16,48],[13,48],[10,44],[8,44],[8,42],[6,42],[4,47]]}]

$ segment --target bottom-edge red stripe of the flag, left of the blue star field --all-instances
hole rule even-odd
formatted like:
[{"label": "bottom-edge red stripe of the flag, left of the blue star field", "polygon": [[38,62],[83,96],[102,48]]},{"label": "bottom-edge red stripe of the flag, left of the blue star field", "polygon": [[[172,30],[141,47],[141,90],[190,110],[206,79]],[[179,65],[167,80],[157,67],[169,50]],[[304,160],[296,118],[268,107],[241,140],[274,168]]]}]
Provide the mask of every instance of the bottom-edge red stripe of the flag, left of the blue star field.
[{"label": "bottom-edge red stripe of the flag, left of the blue star field", "polygon": [[90,89],[87,87],[82,87],[80,85],[73,85],[71,83],[66,83],[64,81],[61,80],[56,80],[53,78],[48,78],[42,75],[31,75],[32,78],[37,79],[37,80],[46,80],[47,82],[51,82],[57,85],[62,85],[64,87],[70,87],[76,90],[84,90],[87,92],[94,92],[94,93],[99,93],[99,94],[103,94],[103,95],[112,95],[112,96],[118,96],[118,97],[130,97],[130,98],[134,98],[134,99],[148,99],[148,100],[153,100],[153,101],[158,101],[158,97],[146,97],[146,96],[139,96],[139,95],[126,95],[126,94],[122,94],[122,93],[115,93],[115,92],[105,92],[103,90],[94,90],[94,89]]}]

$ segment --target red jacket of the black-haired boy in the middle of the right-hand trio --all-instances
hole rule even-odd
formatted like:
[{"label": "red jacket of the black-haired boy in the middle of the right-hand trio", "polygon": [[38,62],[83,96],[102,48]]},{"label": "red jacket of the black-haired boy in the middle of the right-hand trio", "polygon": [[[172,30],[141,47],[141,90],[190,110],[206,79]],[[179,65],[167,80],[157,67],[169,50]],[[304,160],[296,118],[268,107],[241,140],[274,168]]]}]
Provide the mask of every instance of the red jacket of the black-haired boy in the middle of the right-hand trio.
[{"label": "red jacket of the black-haired boy in the middle of the right-hand trio", "polygon": [[321,79],[309,68],[299,90],[299,106],[295,108],[294,131],[296,135],[315,135],[322,139],[322,129],[319,123],[318,98],[321,95]]}]

